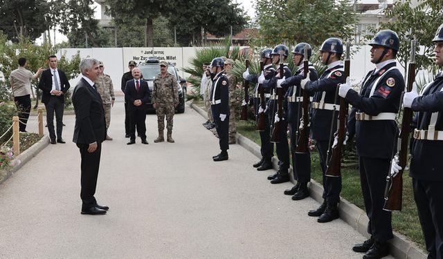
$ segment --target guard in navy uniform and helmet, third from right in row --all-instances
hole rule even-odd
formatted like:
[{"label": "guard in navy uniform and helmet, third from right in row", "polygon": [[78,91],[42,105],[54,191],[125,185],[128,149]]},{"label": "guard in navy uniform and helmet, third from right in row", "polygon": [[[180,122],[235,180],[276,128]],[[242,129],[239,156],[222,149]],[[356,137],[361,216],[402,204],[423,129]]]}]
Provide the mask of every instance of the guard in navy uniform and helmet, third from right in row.
[{"label": "guard in navy uniform and helmet, third from right in row", "polygon": [[312,217],[319,217],[318,222],[329,222],[338,218],[337,203],[340,201],[341,177],[326,177],[327,155],[332,146],[333,133],[337,129],[339,99],[336,97],[337,85],[345,74],[343,62],[343,43],[340,39],[329,38],[320,48],[320,60],[327,69],[317,81],[302,79],[300,86],[309,93],[314,93],[311,115],[311,138],[316,140],[316,148],[323,172],[323,204],[308,212]]}]

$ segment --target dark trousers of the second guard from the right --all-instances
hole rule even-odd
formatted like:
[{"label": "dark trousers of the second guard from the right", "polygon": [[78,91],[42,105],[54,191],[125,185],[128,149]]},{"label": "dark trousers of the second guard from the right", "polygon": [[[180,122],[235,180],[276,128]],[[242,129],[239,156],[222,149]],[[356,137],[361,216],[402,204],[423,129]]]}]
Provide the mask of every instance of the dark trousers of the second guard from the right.
[{"label": "dark trousers of the second guard from the right", "polygon": [[390,240],[392,235],[390,211],[384,211],[384,186],[390,172],[390,160],[359,157],[361,191],[368,215],[368,233],[380,242]]}]

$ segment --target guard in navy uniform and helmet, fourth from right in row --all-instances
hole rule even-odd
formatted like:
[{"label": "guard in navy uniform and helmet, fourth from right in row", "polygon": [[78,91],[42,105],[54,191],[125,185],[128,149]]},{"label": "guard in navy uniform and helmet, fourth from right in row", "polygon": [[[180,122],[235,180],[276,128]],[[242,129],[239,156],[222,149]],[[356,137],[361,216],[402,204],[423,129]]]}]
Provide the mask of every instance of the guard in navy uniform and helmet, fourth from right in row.
[{"label": "guard in navy uniform and helmet, fourth from right in row", "polygon": [[[307,49],[307,57],[305,57],[305,48]],[[291,140],[291,157],[293,166],[293,177],[297,180],[297,184],[292,189],[284,190],[284,194],[293,195],[292,200],[302,200],[309,196],[307,183],[311,181],[311,154],[296,153],[296,146],[298,142],[298,130],[300,126],[300,118],[302,117],[302,102],[303,97],[300,91],[300,81],[302,77],[299,75],[303,72],[303,61],[309,60],[312,55],[311,46],[307,43],[297,44],[292,51],[293,64],[296,65],[297,70],[293,77],[286,80],[280,79],[278,84],[287,90],[288,113],[287,121],[289,123],[289,138]],[[318,74],[314,65],[309,62],[309,79],[316,81]]]}]

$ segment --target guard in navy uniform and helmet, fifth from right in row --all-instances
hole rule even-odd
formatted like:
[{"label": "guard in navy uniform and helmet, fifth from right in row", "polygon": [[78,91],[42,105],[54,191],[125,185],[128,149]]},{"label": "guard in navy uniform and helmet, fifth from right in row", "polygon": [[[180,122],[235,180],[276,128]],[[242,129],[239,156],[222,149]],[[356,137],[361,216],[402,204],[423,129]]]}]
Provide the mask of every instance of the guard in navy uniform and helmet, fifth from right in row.
[{"label": "guard in navy uniform and helmet, fifth from right in row", "polygon": [[[280,51],[283,52],[282,59],[280,60]],[[276,115],[278,111],[278,95],[277,95],[277,81],[280,78],[288,78],[291,77],[291,70],[288,67],[288,64],[286,63],[286,59],[289,56],[289,50],[287,46],[284,46],[283,44],[279,44],[273,48],[271,52],[272,57],[272,63],[275,64],[275,66],[280,67],[280,61],[283,63],[283,69],[284,69],[284,75],[280,75],[280,72],[277,70],[275,75],[271,77],[271,79],[266,79],[264,77],[264,74],[260,75],[258,77],[257,81],[259,84],[262,84],[264,89],[269,90],[271,93],[271,97],[268,101],[268,108],[265,113],[269,116],[269,124],[271,125],[271,133],[273,124],[277,121],[280,121],[281,124],[281,131],[280,131],[280,142],[275,143],[276,151],[277,151],[277,157],[278,157],[278,171],[268,176],[268,180],[271,180],[271,184],[280,184],[282,182],[289,182],[289,144],[287,142],[287,118],[286,114],[287,111],[283,111],[282,118],[279,118],[278,115]],[[279,86],[281,87],[281,86]],[[283,95],[285,92],[283,93]],[[283,102],[285,103],[285,100],[283,99]],[[283,107],[287,107],[285,104],[283,104]]]}]

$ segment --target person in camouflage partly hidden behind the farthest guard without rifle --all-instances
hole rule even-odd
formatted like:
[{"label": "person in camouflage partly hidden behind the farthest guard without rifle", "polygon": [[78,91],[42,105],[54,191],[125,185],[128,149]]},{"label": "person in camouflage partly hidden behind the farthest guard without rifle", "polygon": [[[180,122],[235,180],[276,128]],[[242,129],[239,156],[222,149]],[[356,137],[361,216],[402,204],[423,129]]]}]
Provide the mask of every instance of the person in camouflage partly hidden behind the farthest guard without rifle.
[{"label": "person in camouflage partly hidden behind the farthest guard without rifle", "polygon": [[237,129],[235,128],[235,88],[237,87],[237,77],[229,73],[233,65],[233,59],[226,59],[224,61],[224,71],[229,80],[229,144],[235,144],[235,134],[237,134]]}]

